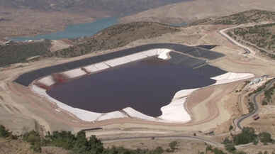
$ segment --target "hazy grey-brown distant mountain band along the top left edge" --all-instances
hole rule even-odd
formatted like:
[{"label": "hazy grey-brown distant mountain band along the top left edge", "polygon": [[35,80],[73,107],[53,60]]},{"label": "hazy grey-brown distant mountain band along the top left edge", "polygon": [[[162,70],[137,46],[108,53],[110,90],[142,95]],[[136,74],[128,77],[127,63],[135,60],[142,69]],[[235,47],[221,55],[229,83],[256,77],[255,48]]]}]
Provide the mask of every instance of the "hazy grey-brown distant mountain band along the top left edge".
[{"label": "hazy grey-brown distant mountain band along the top left edge", "polygon": [[43,11],[109,11],[122,16],[191,0],[0,0],[0,6]]}]

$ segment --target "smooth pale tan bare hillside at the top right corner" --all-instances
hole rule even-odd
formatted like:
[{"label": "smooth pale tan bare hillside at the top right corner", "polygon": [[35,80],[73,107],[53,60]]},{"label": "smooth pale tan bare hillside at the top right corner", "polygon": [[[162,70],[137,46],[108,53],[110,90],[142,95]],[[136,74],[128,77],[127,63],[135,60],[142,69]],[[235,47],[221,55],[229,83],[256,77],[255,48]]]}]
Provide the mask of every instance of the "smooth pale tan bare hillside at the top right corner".
[{"label": "smooth pale tan bare hillside at the top right corner", "polygon": [[164,23],[182,23],[196,21],[202,18],[228,16],[232,13],[250,9],[273,11],[273,0],[195,0],[185,3],[171,4],[157,9],[143,11],[133,16],[126,16],[121,22],[157,21]]}]

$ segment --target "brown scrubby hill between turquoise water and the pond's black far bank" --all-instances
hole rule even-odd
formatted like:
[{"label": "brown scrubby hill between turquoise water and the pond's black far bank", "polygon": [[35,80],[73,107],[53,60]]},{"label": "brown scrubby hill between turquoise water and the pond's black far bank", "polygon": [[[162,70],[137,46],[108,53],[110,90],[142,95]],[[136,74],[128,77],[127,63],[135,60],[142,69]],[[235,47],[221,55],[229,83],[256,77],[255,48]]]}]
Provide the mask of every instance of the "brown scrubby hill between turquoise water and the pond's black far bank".
[{"label": "brown scrubby hill between turquoise water and the pond's black far bank", "polygon": [[91,38],[74,40],[77,45],[48,53],[47,57],[75,57],[98,50],[122,47],[135,40],[154,38],[165,33],[176,33],[179,29],[152,22],[118,24],[104,29]]}]

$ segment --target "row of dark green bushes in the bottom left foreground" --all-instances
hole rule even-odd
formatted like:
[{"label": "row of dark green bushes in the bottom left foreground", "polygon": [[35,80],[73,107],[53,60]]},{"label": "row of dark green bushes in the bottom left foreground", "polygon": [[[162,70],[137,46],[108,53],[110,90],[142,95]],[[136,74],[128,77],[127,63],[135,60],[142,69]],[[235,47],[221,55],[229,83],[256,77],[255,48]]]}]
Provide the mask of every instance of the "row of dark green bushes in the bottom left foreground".
[{"label": "row of dark green bushes in the bottom left foreground", "polygon": [[[30,144],[30,149],[34,153],[41,153],[42,148],[45,147],[59,147],[67,150],[68,153],[75,154],[161,154],[164,150],[161,147],[157,147],[153,150],[148,149],[126,149],[123,147],[104,148],[103,143],[91,136],[86,138],[84,131],[79,131],[77,135],[72,134],[69,131],[54,131],[53,133],[47,133],[45,137],[40,136],[36,131],[30,131],[23,134],[23,136],[13,136],[12,133],[4,126],[0,126],[0,138],[6,138],[9,141],[19,141]],[[171,143],[170,147],[175,150],[176,145]]]}]

